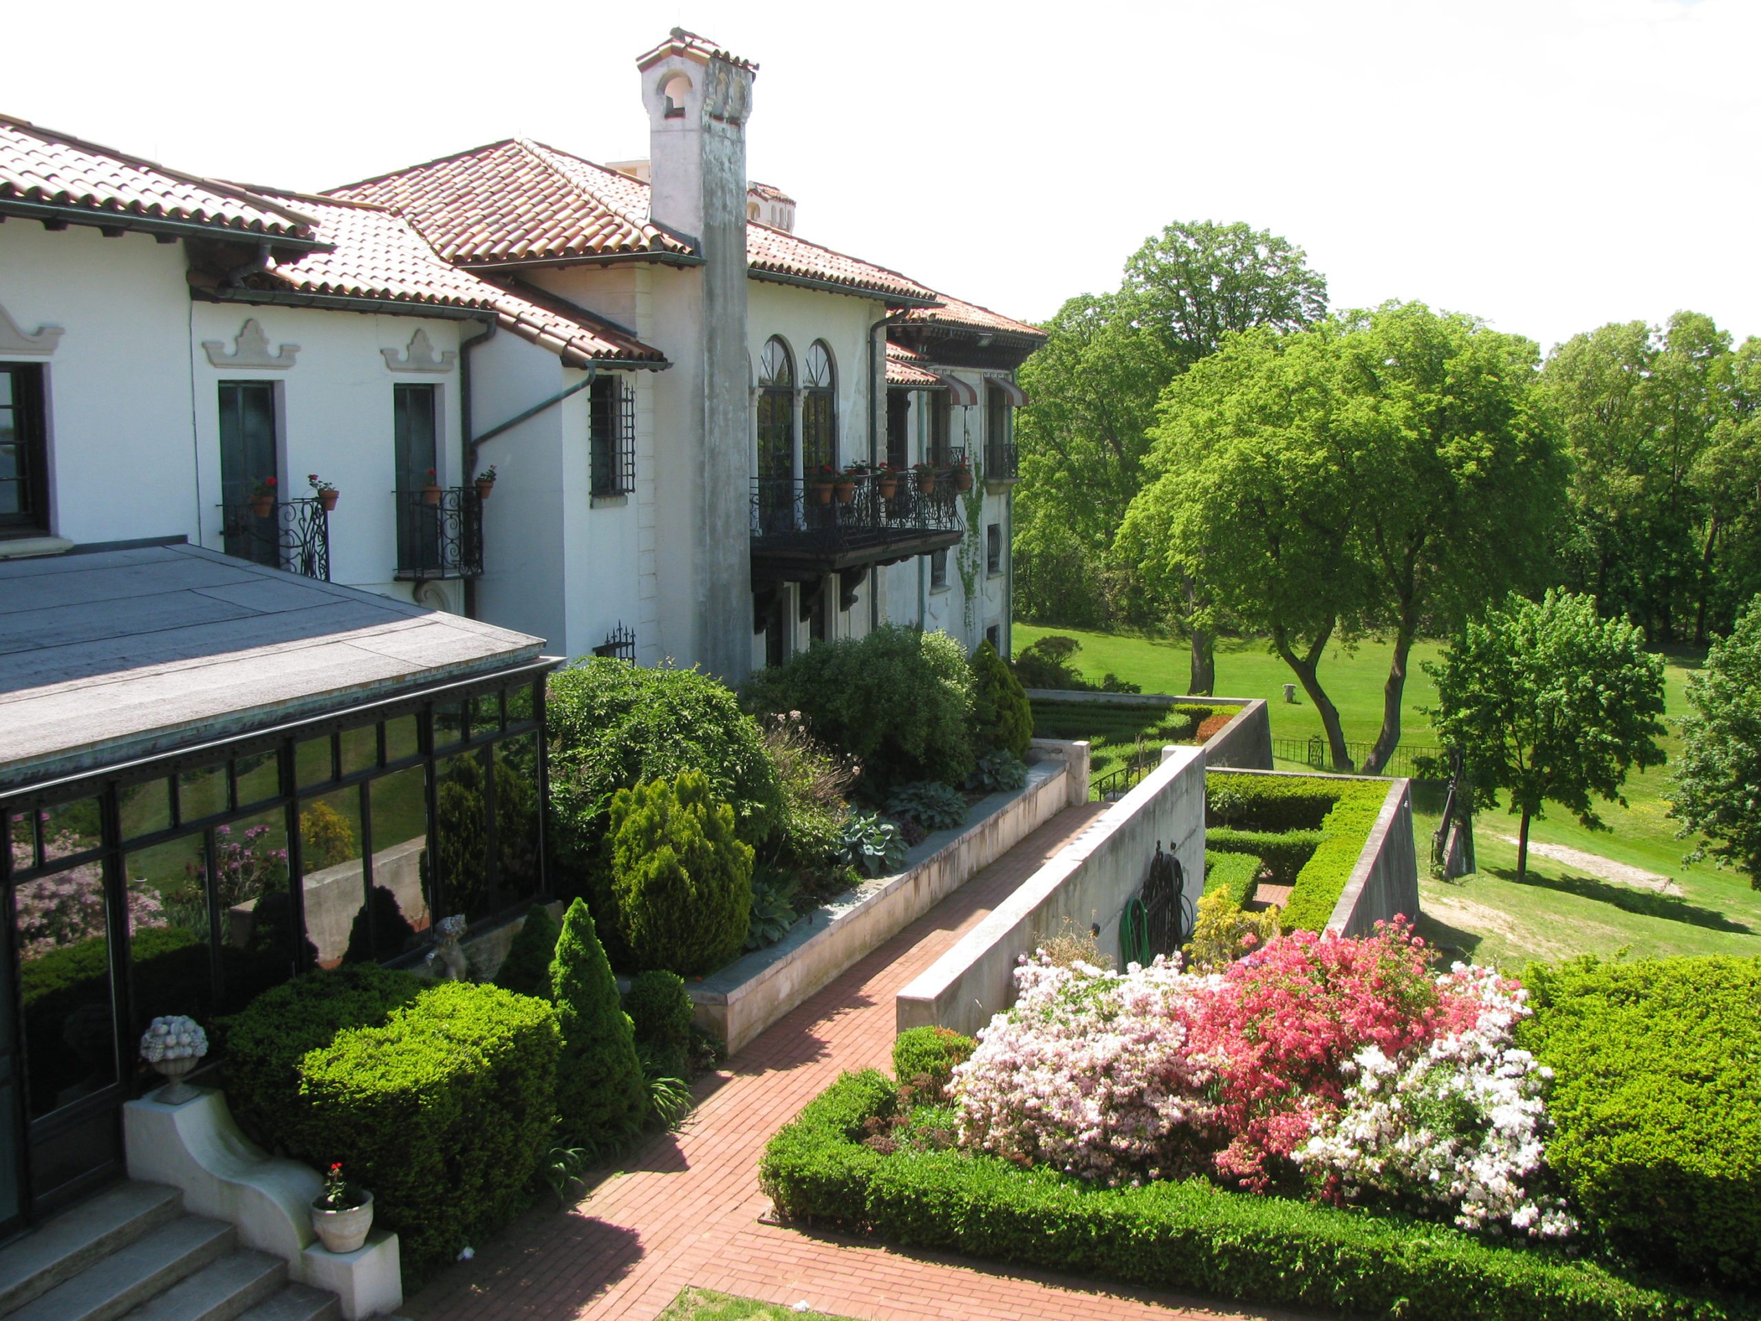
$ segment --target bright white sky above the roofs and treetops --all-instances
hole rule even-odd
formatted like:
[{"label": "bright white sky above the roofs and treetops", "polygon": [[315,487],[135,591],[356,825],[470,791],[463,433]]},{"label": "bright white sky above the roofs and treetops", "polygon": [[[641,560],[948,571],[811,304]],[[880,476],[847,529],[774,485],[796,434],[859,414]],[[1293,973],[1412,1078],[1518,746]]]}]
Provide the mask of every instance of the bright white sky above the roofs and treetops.
[{"label": "bright white sky above the roofs and treetops", "polygon": [[1761,333],[1754,0],[18,5],[0,109],[303,190],[511,134],[616,160],[674,23],[763,65],[750,174],[798,232],[1011,315],[1212,218],[1335,306]]}]

